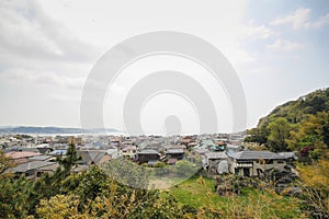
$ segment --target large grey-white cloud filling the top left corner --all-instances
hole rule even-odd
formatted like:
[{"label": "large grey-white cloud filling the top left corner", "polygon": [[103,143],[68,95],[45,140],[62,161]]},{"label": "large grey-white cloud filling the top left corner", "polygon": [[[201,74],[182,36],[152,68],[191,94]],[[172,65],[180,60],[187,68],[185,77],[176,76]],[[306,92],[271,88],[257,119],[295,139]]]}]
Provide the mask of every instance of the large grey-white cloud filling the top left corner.
[{"label": "large grey-white cloud filling the top left corner", "polygon": [[94,51],[65,25],[48,18],[34,1],[1,1],[0,32],[5,33],[0,35],[1,49],[20,56],[86,61]]}]

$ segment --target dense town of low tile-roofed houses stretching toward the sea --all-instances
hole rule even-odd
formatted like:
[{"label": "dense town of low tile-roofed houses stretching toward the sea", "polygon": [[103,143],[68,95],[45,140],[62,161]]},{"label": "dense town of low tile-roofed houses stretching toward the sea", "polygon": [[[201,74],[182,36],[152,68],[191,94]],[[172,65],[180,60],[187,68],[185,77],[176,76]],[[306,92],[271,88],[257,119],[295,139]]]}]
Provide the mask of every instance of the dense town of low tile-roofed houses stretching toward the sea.
[{"label": "dense town of low tile-roofed houses stretching toward the sea", "polygon": [[273,153],[245,149],[243,135],[194,135],[194,136],[0,136],[0,149],[16,165],[11,173],[26,177],[39,177],[53,173],[58,158],[67,153],[68,145],[75,142],[80,160],[73,172],[102,165],[116,158],[126,158],[138,164],[154,166],[161,161],[174,165],[197,155],[203,169],[211,175],[231,173],[243,176],[261,176],[268,171],[290,171],[293,152]]}]

